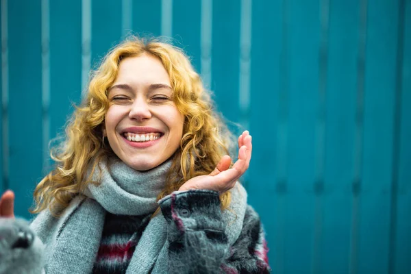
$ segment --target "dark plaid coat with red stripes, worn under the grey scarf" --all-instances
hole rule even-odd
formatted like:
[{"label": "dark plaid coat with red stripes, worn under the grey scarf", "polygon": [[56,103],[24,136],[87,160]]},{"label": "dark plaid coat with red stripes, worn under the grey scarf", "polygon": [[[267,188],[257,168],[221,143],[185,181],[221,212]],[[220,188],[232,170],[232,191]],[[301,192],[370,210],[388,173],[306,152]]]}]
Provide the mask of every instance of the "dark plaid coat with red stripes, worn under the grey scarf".
[{"label": "dark plaid coat with red stripes, worn under the grey scarf", "polygon": [[[219,196],[208,192],[173,194],[160,202],[169,223],[171,273],[269,273],[264,230],[258,214],[247,206],[240,236],[228,246],[219,222]],[[125,273],[147,216],[107,214],[92,273]]]}]

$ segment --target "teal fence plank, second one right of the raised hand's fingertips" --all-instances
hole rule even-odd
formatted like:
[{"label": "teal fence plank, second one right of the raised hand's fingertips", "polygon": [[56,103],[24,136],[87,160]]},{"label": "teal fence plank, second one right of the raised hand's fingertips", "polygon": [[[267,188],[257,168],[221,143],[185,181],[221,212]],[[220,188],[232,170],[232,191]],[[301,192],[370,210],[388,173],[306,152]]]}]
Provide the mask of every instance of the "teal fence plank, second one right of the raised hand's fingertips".
[{"label": "teal fence plank, second one right of the raised hand's fingertips", "polygon": [[[319,100],[319,1],[289,1],[288,195],[285,267],[311,269],[314,227],[315,123]],[[296,264],[296,262],[298,262]]]}]

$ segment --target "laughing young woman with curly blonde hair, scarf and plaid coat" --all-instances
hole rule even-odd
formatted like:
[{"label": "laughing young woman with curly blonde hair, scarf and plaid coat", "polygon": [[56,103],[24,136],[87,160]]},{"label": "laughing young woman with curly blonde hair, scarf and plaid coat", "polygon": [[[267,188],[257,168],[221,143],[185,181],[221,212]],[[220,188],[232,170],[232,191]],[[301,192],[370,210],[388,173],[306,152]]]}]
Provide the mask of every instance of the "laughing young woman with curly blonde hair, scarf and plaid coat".
[{"label": "laughing young woman with curly blonde hair, scarf and plaid coat", "polygon": [[[46,273],[268,273],[262,225],[238,183],[251,150],[182,51],[123,42],[92,76],[34,192]],[[12,201],[6,192],[3,215]]]}]

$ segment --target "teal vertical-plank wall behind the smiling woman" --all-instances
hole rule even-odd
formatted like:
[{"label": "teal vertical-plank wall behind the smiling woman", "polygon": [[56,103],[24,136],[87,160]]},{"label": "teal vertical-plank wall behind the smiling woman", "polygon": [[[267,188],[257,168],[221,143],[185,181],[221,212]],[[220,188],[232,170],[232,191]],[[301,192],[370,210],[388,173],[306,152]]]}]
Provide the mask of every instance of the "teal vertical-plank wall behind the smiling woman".
[{"label": "teal vertical-plank wall behind the smiling woman", "polygon": [[250,129],[274,273],[411,273],[409,0],[1,0],[0,190],[18,215],[129,32],[175,38]]}]

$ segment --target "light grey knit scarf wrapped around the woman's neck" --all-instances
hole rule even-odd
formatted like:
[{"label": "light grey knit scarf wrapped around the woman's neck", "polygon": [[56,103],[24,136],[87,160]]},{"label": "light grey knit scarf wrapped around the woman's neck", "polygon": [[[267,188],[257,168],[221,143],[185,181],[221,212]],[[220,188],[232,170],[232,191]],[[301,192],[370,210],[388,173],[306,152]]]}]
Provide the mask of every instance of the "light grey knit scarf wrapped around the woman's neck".
[{"label": "light grey knit scarf wrapped around the woman's neck", "polygon": [[[101,184],[90,184],[84,195],[71,201],[60,219],[44,210],[31,225],[47,246],[47,274],[91,273],[100,246],[105,212],[153,213],[158,208],[156,197],[164,188],[171,160],[145,172],[131,169],[119,160],[110,160],[109,164],[101,162],[100,166]],[[229,210],[223,212],[223,220],[229,224],[226,233],[231,244],[238,238],[247,205],[247,194],[239,184],[232,195],[230,208],[236,216]],[[142,233],[126,273],[149,273],[150,270],[167,273],[169,242],[166,241],[166,229],[167,223],[160,212]]]}]

